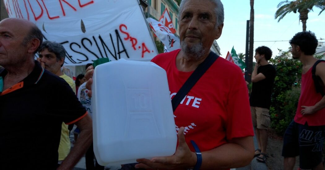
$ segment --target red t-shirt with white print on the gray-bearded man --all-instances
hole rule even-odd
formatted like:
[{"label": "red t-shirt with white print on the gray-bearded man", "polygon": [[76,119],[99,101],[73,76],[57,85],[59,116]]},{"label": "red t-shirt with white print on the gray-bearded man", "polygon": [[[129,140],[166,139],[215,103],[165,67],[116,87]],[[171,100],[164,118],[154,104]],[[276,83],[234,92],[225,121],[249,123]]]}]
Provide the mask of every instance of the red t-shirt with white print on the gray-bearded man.
[{"label": "red t-shirt with white print on the gray-bearded man", "polygon": [[[167,72],[171,98],[193,72],[176,68],[180,50],[157,55],[151,61]],[[214,149],[233,138],[253,136],[248,89],[240,68],[219,57],[188,92],[174,112],[176,130],[185,127],[185,139],[201,152]]]}]

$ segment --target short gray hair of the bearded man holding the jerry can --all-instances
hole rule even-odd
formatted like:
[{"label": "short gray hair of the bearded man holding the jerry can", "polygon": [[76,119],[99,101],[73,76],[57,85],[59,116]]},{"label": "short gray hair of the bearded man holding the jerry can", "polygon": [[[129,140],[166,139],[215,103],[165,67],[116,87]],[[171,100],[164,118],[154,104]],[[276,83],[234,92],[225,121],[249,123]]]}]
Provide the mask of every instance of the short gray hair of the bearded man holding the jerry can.
[{"label": "short gray hair of the bearded man holding the jerry can", "polygon": [[[182,0],[181,4],[179,5],[179,13],[178,13],[178,20],[181,20],[181,16],[182,16],[182,12],[184,10],[184,5],[188,0]],[[215,4],[215,8],[214,8],[214,13],[215,16],[217,18],[216,20],[216,26],[218,27],[220,26],[225,19],[225,12],[224,12],[224,8],[223,8],[223,4],[220,0],[206,0],[206,1],[210,1],[213,2]]]}]

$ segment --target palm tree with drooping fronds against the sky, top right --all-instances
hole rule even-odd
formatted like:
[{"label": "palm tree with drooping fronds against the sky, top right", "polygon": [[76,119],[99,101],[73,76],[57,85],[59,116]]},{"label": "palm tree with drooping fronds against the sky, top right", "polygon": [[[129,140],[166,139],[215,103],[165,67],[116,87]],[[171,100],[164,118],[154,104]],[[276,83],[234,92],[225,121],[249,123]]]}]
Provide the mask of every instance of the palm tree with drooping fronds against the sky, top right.
[{"label": "palm tree with drooping fronds against the sky, top right", "polygon": [[325,9],[325,0],[294,0],[294,1],[282,1],[278,5],[278,10],[275,12],[275,19],[279,17],[278,22],[288,13],[299,13],[299,19],[303,23],[303,31],[306,31],[306,22],[308,19],[308,13],[316,6],[321,9],[318,15],[320,15]]}]

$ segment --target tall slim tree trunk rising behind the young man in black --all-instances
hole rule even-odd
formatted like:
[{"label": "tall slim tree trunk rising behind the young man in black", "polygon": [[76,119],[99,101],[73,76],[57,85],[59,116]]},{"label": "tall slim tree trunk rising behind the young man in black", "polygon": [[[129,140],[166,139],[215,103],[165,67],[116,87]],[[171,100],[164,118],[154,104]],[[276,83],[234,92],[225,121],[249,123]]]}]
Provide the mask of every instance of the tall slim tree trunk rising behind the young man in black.
[{"label": "tall slim tree trunk rising behind the young man in black", "polygon": [[251,5],[251,17],[249,21],[249,55],[247,62],[247,74],[248,76],[246,81],[251,83],[252,73],[253,73],[253,53],[254,53],[254,0],[250,0]]}]

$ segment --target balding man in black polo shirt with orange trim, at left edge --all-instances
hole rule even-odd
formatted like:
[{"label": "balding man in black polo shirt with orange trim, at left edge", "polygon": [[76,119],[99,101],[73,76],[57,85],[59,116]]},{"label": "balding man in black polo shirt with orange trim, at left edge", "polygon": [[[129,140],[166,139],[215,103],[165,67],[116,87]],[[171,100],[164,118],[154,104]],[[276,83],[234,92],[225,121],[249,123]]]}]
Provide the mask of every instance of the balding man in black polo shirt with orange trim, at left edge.
[{"label": "balding man in black polo shirt with orange trim, at left edge", "polygon": [[[72,169],[92,142],[91,118],[70,86],[34,60],[42,41],[27,20],[0,22],[0,169]],[[81,133],[58,167],[62,122]]]}]

